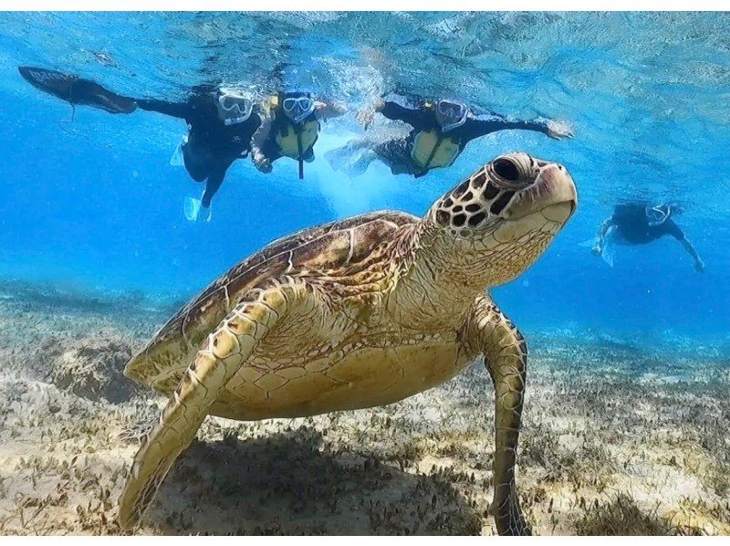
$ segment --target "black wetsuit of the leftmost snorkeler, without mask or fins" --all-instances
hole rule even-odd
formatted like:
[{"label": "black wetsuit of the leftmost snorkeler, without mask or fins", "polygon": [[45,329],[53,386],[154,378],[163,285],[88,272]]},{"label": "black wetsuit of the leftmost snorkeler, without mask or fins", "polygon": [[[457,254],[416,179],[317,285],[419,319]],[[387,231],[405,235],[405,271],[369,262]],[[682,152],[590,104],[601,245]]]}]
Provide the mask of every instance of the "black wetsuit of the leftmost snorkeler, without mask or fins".
[{"label": "black wetsuit of the leftmost snorkeler, without mask or fins", "polygon": [[201,203],[210,206],[228,167],[250,151],[251,137],[261,125],[259,116],[252,113],[246,121],[225,125],[218,117],[214,98],[207,95],[193,95],[187,102],[147,99],[136,102],[142,110],[187,121],[190,132],[183,146],[185,168],[195,182],[207,179]]}]

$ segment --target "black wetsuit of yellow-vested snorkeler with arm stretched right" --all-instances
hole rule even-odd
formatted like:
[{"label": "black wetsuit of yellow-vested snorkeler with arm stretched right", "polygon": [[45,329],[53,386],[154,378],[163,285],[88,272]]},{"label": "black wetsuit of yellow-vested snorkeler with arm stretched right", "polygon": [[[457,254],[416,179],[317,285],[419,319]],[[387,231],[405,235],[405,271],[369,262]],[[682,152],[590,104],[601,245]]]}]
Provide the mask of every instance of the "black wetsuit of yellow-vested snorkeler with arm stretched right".
[{"label": "black wetsuit of yellow-vested snorkeler with arm stretched right", "polygon": [[485,136],[490,132],[505,131],[507,129],[524,129],[528,131],[539,131],[547,134],[547,121],[509,121],[505,118],[495,117],[490,120],[479,120],[473,116],[467,117],[460,127],[451,131],[443,132],[441,125],[436,121],[436,115],[429,109],[405,108],[397,102],[385,102],[381,114],[389,120],[404,121],[413,127],[407,137],[393,141],[383,142],[374,148],[374,152],[381,156],[391,166],[393,173],[412,173],[416,178],[428,173],[430,168],[420,168],[412,161],[412,146],[416,136],[422,131],[437,131],[439,135],[448,137],[459,146],[458,153],[464,152],[466,144],[476,138]]}]

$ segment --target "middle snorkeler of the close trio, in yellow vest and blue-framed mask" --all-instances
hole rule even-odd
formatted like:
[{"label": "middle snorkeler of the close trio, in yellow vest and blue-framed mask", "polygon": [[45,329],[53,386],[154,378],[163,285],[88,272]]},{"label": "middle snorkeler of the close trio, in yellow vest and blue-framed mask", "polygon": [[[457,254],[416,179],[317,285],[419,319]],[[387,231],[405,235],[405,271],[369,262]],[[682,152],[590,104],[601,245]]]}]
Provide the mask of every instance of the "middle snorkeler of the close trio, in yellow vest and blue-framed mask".
[{"label": "middle snorkeler of the close trio, in yellow vest and blue-framed mask", "polygon": [[346,111],[343,104],[320,102],[306,92],[277,95],[270,100],[267,115],[251,142],[256,168],[271,173],[272,163],[280,157],[290,157],[297,160],[299,178],[304,178],[304,162],[314,161],[320,122]]}]

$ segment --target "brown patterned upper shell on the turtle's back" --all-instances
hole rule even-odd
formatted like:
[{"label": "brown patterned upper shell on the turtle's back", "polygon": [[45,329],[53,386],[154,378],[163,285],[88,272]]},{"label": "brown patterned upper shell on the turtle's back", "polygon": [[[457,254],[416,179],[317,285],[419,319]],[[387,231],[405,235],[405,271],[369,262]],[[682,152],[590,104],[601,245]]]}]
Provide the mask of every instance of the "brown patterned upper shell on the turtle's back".
[{"label": "brown patterned upper shell on the turtle's back", "polygon": [[235,308],[246,291],[267,278],[352,267],[364,262],[400,227],[417,216],[381,211],[309,227],[282,237],[245,258],[191,300],[134,356],[124,374],[155,387],[188,366],[205,337]]}]

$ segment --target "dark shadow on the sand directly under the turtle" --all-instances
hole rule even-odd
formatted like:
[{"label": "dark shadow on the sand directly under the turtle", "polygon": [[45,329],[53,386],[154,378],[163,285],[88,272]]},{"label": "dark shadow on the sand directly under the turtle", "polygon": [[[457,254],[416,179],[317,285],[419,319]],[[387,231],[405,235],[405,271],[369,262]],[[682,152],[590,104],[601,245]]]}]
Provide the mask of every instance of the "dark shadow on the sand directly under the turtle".
[{"label": "dark shadow on the sand directly under the turtle", "polygon": [[195,442],[145,523],[165,534],[479,534],[481,517],[446,478],[324,446],[301,427]]}]

